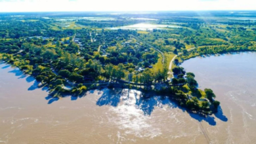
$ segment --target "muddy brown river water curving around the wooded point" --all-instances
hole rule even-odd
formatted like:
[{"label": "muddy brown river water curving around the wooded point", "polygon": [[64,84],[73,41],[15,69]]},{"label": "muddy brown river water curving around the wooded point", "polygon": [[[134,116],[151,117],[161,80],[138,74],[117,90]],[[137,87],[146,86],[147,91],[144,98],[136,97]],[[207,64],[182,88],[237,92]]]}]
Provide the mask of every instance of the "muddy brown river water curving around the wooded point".
[{"label": "muddy brown river water curving around the wooded point", "polygon": [[[201,117],[135,90],[51,98],[32,77],[0,65],[0,143],[255,143],[256,53],[192,58],[186,71],[221,101]],[[201,87],[202,86],[202,87]]]}]

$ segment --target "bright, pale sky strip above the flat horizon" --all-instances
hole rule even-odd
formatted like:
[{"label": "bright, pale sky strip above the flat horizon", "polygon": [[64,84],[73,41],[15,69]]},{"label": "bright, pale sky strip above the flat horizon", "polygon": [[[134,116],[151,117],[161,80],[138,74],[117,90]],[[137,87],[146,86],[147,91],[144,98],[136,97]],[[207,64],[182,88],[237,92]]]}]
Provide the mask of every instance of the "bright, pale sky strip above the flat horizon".
[{"label": "bright, pale sky strip above the flat horizon", "polygon": [[0,0],[0,12],[256,10],[255,0]]}]

